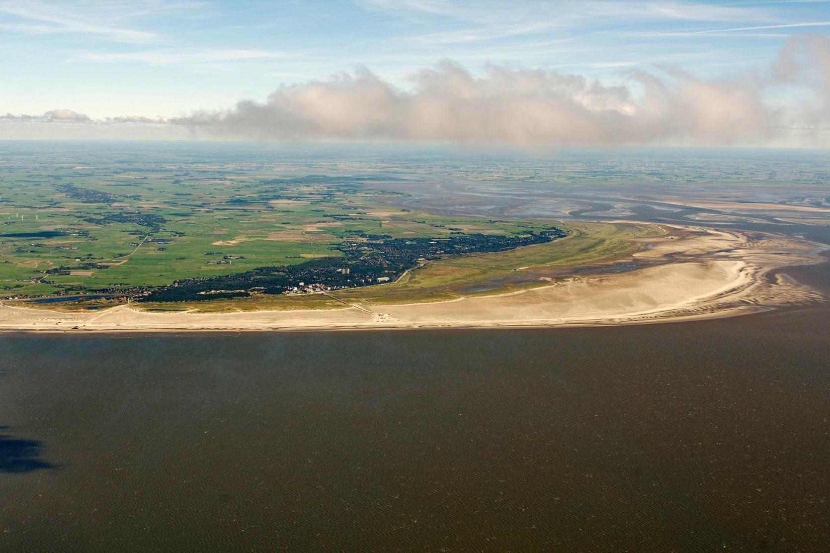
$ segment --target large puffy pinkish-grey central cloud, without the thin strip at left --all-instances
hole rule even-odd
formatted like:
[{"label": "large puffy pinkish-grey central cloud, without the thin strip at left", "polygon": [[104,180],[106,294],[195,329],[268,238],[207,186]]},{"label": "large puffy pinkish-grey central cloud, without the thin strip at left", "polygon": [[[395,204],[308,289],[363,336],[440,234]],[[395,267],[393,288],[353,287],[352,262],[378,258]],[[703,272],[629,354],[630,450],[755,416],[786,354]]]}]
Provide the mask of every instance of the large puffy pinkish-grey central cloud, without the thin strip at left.
[{"label": "large puffy pinkish-grey central cloud, without the thin strip at left", "polygon": [[278,88],[264,103],[172,119],[259,140],[401,140],[609,145],[764,138],[775,114],[751,85],[678,71],[629,72],[632,87],[580,75],[443,62],[398,90],[369,70]]}]

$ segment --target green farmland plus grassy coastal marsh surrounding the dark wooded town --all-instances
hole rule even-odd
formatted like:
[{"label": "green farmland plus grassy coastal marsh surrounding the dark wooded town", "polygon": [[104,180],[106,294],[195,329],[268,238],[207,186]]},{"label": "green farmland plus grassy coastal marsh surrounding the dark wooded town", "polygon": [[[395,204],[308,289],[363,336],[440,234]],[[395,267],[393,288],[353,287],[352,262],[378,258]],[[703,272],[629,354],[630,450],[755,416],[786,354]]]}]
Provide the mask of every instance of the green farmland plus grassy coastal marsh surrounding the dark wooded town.
[{"label": "green farmland plus grassy coastal marsh surrounding the dark wooded town", "polygon": [[2,163],[0,297],[108,297],[45,304],[50,308],[112,305],[121,294],[135,298],[183,279],[341,256],[337,248],[344,240],[366,236],[525,236],[554,225],[569,231],[567,238],[546,244],[430,260],[388,284],[140,306],[216,311],[440,301],[545,284],[556,269],[619,259],[639,247],[633,239],[662,232],[633,223],[562,224],[418,211],[408,201],[413,196],[400,192],[413,174],[393,167],[332,168],[324,174],[316,166],[315,172],[252,161],[252,154],[247,159],[241,151],[210,162],[183,153],[119,158],[85,152],[83,163],[51,155],[8,156]]}]

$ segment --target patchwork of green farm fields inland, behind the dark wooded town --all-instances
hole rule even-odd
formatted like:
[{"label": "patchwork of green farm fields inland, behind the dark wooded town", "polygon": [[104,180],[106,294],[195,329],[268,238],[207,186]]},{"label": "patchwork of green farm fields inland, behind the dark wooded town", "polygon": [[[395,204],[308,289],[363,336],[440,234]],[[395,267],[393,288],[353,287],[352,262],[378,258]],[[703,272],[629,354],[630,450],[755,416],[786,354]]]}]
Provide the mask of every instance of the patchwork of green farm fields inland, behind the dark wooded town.
[{"label": "patchwork of green farm fields inland, behind the dark wooded town", "polygon": [[[186,176],[77,174],[71,168],[7,175],[0,182],[0,293],[36,297],[163,286],[342,255],[335,246],[367,234],[520,235],[549,227],[402,210],[393,206],[397,194],[351,177],[304,180],[258,174],[220,180],[194,170]],[[66,192],[68,181],[76,196]],[[85,201],[78,190],[93,200],[90,191],[111,196]]]}]

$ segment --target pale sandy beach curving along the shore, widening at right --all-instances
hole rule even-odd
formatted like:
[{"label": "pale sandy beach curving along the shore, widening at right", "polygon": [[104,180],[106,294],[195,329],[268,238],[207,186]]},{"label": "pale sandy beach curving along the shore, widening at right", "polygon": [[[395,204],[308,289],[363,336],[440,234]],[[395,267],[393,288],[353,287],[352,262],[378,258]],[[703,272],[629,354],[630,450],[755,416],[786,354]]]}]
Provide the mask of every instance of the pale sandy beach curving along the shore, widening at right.
[{"label": "pale sandy beach curving along the shore, widening at right", "polygon": [[676,227],[642,240],[649,266],[580,275],[534,289],[446,302],[342,309],[158,313],[120,305],[62,313],[0,305],[0,332],[300,331],[440,327],[558,327],[721,318],[823,296],[776,269],[824,261],[821,245],[778,235]]}]

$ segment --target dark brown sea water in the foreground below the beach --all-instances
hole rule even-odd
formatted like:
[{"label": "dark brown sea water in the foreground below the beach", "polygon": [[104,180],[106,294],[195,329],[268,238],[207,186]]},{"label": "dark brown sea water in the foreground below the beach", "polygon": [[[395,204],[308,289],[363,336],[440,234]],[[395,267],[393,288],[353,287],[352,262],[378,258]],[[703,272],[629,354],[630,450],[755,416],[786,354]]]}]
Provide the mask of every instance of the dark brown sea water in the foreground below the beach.
[{"label": "dark brown sea water in the foreground below the beach", "polygon": [[827,551],[828,328],[5,335],[0,550]]}]

